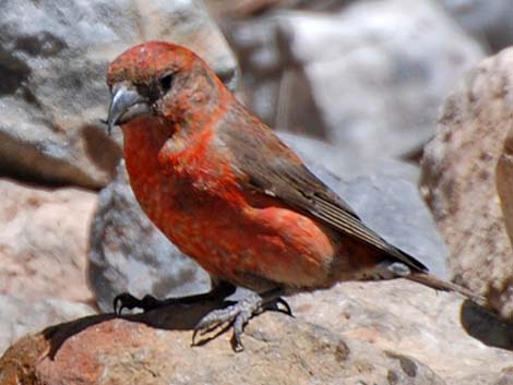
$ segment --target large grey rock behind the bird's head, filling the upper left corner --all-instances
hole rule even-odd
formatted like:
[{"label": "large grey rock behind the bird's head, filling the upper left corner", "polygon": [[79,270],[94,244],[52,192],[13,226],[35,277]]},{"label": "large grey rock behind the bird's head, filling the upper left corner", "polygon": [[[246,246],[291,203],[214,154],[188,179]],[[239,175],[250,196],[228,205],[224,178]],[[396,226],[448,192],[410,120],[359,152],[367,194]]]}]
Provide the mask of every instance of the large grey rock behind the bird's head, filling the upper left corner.
[{"label": "large grey rock behind the bird's head, filling the upper left corner", "polygon": [[150,39],[186,45],[236,80],[236,60],[200,0],[2,1],[0,170],[104,187],[120,157],[99,123],[106,69]]}]

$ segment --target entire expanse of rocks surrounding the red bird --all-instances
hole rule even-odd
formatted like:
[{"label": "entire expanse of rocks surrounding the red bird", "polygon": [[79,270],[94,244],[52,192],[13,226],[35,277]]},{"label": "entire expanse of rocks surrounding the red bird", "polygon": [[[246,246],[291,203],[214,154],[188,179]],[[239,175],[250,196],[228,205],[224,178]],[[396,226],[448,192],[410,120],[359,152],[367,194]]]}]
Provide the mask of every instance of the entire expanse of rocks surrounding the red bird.
[{"label": "entire expanse of rocks surrounding the red bird", "polygon": [[[4,1],[0,384],[513,383],[511,10]],[[370,227],[489,310],[404,280],[341,284],[290,298],[295,318],[254,318],[239,353],[229,333],[190,346],[216,303],[99,314],[121,291],[208,287],[141,213],[100,122],[109,61],[148,39],[198,51]]]}]

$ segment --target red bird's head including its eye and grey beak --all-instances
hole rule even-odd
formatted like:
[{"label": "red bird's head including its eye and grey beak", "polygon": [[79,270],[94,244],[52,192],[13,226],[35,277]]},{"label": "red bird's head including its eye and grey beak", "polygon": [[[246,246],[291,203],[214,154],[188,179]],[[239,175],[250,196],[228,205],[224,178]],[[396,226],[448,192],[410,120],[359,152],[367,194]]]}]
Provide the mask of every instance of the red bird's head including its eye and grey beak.
[{"label": "red bird's head including its eye and grey beak", "polygon": [[227,92],[215,73],[195,53],[164,41],[134,46],[110,64],[107,84],[111,101],[109,133],[141,116],[174,123],[202,123],[222,104]]}]

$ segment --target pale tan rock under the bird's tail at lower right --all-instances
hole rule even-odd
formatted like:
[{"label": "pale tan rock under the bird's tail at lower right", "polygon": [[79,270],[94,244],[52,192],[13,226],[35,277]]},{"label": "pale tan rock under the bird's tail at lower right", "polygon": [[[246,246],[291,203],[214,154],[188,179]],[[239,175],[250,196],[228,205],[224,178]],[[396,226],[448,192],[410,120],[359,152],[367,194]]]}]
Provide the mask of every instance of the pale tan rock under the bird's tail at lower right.
[{"label": "pale tan rock under the bird's tail at lower right", "polygon": [[513,324],[455,293],[397,279],[344,282],[289,303],[298,320],[413,357],[448,384],[481,384],[475,378],[493,384],[498,373],[513,365]]}]

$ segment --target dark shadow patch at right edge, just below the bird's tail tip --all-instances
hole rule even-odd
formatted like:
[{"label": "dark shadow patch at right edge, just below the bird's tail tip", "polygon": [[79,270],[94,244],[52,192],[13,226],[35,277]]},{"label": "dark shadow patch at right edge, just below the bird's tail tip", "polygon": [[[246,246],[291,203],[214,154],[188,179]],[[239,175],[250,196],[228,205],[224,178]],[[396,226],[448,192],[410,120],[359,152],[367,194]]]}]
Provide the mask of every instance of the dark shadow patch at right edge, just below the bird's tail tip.
[{"label": "dark shadow patch at right edge, just below the bird's tail tip", "polygon": [[512,321],[468,300],[463,303],[460,315],[463,327],[474,338],[487,346],[513,350]]}]

